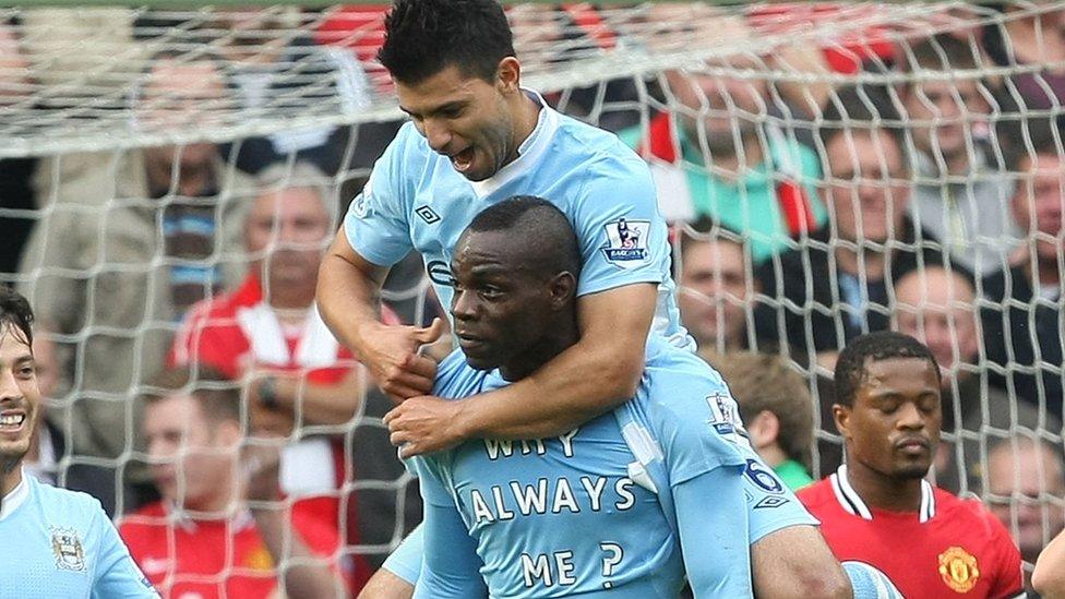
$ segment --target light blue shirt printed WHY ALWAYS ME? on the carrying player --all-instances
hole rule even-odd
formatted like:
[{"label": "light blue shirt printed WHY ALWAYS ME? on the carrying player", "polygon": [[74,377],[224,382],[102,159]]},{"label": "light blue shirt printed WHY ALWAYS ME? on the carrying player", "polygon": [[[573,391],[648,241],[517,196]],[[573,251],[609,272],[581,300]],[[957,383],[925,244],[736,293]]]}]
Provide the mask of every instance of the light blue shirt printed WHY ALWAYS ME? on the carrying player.
[{"label": "light blue shirt printed WHY ALWAYS ME? on the carrying player", "polygon": [[[505,384],[455,351],[441,362],[433,393],[466,397]],[[747,455],[720,411],[717,398],[727,393],[698,357],[651,339],[632,400],[650,429],[644,439],[626,438],[607,414],[553,439],[476,440],[410,460],[427,504],[417,596],[471,595],[463,576],[432,566],[453,563],[464,542],[492,597],[675,597],[685,572],[697,597],[750,596]],[[662,456],[668,480],[642,471],[634,444]],[[448,510],[459,525],[441,528],[434,518]],[[681,551],[685,535],[684,547],[698,551]]]}]

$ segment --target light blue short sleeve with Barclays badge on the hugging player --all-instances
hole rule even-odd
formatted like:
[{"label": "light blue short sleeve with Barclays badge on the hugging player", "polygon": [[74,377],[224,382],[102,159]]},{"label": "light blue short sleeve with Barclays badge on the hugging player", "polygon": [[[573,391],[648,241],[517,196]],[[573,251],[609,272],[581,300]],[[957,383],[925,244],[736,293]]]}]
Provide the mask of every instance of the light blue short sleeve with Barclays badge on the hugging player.
[{"label": "light blue short sleeve with Barclays badge on the hugging player", "polygon": [[668,229],[655,182],[647,165],[627,148],[625,153],[631,157],[589,164],[572,206],[584,262],[578,296],[669,278]]}]

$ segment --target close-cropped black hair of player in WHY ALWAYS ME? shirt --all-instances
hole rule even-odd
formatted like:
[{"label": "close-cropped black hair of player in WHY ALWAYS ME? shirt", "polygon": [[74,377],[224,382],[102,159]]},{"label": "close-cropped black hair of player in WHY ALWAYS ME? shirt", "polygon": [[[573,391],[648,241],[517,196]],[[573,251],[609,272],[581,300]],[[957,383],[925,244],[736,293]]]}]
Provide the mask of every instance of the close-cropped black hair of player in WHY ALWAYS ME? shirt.
[{"label": "close-cropped black hair of player in WHY ALWAYS ME? shirt", "polygon": [[514,231],[515,236],[535,236],[535,239],[525,240],[523,245],[537,254],[538,266],[569,271],[574,277],[581,276],[577,233],[565,213],[542,197],[507,197],[475,216],[466,227],[466,232],[469,231]]}]

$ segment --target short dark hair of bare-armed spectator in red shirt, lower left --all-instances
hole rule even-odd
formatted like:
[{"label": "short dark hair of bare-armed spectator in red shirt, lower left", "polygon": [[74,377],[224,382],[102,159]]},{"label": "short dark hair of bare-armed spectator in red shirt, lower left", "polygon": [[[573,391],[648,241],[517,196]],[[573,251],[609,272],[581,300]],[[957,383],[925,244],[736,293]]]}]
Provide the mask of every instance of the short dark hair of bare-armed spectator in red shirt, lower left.
[{"label": "short dark hair of bare-armed spectator in red shirt, lower left", "polygon": [[204,366],[169,368],[157,374],[140,395],[144,406],[179,394],[192,396],[212,424],[241,422],[240,384],[218,370]]}]

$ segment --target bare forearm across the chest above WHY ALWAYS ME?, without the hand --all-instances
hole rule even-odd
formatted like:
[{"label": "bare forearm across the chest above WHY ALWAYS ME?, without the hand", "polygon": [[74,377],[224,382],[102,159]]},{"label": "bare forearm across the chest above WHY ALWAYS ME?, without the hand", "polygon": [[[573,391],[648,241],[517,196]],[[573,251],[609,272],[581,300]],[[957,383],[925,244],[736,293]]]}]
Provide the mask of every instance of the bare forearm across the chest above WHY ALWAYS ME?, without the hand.
[{"label": "bare forearm across the chest above WHY ALWAYS ME?, without the hand", "polygon": [[644,344],[577,343],[531,376],[464,400],[467,436],[538,439],[563,434],[632,398],[644,368]]}]

